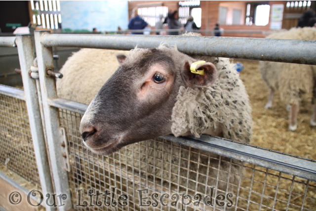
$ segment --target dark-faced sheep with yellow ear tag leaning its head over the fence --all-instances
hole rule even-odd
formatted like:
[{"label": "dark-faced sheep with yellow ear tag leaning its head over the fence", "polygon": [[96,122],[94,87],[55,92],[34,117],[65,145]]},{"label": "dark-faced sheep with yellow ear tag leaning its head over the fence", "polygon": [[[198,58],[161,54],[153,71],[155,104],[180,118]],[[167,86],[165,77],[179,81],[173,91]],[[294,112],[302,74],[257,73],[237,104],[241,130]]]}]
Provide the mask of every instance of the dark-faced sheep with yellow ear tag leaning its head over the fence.
[{"label": "dark-faced sheep with yellow ear tag leaning its head over the fence", "polygon": [[[168,63],[160,64],[162,62],[157,61],[160,57],[165,59],[162,61],[167,61]],[[145,58],[147,60],[142,60],[141,58]],[[152,85],[151,80],[155,81],[156,79],[164,79],[164,75],[159,73],[158,70],[164,71],[164,74],[168,73],[167,70],[163,69],[163,65],[169,65],[170,67],[168,66],[167,68],[172,70],[176,69],[179,71],[187,71],[186,69],[183,70],[183,67],[180,66],[182,64],[174,62],[184,61],[185,59],[187,60],[185,61],[185,68],[190,69],[189,66],[191,63],[193,63],[193,58],[180,53],[176,48],[159,46],[159,48],[152,50],[138,48],[132,50],[127,59],[122,62],[122,65],[118,68],[115,74],[111,76],[109,81],[113,82],[105,83],[94,100],[90,103],[87,111],[81,119],[80,128],[82,137],[84,139],[84,143],[89,147],[89,149],[96,153],[101,152],[109,154],[115,149],[119,149],[131,142],[141,141],[146,137],[155,138],[159,135],[166,135],[170,133],[174,134],[176,137],[190,134],[199,137],[199,135],[203,133],[211,135],[220,135],[222,133],[224,138],[249,142],[251,138],[251,108],[249,106],[249,100],[244,86],[241,80],[239,80],[238,74],[236,70],[234,70],[233,64],[230,63],[229,59],[210,58],[208,61],[211,61],[212,63],[198,65],[197,68],[203,68],[205,69],[205,72],[208,71],[208,74],[205,75],[197,75],[191,72],[172,72],[171,76],[169,76],[169,80],[175,80],[174,84],[169,85],[166,83],[168,84],[166,87],[155,87],[154,91],[159,92],[155,93],[154,96],[152,96],[152,93],[146,93],[147,89],[151,89],[152,86],[155,85]],[[148,62],[148,64],[145,63],[145,61]],[[138,81],[140,80],[138,77],[141,79],[144,77],[140,72],[144,72],[143,74],[149,74],[146,72],[147,69],[134,70],[136,69],[134,66],[138,65],[138,63],[147,67],[151,71],[157,71],[158,73],[154,74],[155,78],[148,78],[145,82]],[[150,66],[151,64],[155,65]],[[127,69],[125,72],[123,72],[124,70],[121,70],[124,68]],[[216,69],[219,71],[217,72]],[[127,78],[129,75],[125,74],[130,74],[130,78]],[[120,79],[119,76],[124,78]],[[133,80],[135,80],[135,82]],[[160,81],[156,81],[156,84],[159,84],[159,82]],[[164,82],[166,81],[163,81],[163,84],[165,84]],[[118,87],[107,88],[112,83]],[[136,83],[136,85],[133,83]],[[140,93],[135,93],[135,91],[132,89],[134,86],[139,86],[137,83],[142,83],[140,84]],[[171,86],[176,87],[172,88]],[[112,89],[113,92],[110,92],[109,89]],[[168,105],[162,104],[164,102],[159,102],[160,99],[156,95],[160,94],[160,92],[164,95],[160,96],[160,98],[167,97],[167,102],[165,103]],[[132,102],[130,98],[139,98],[141,99],[140,101],[146,101],[146,103],[141,105],[139,102]],[[105,101],[104,99],[106,99],[106,103],[103,102]],[[150,101],[153,101],[153,103]],[[127,106],[124,105],[124,103],[127,104],[127,102],[129,107],[119,106]],[[132,103],[135,104],[134,106],[140,106],[140,108],[132,107]],[[155,107],[155,103],[159,106],[167,106],[167,108],[163,110],[166,113],[159,113],[160,110]],[[100,106],[103,106],[103,104],[105,104],[107,107],[101,108]],[[111,106],[109,106],[110,104]],[[120,126],[118,126],[121,121],[129,121],[128,123],[132,124],[132,120],[135,120],[137,117],[133,116],[132,112],[135,112],[135,114],[139,116],[138,118],[144,118],[142,116],[142,112],[148,111],[140,111],[137,109],[145,108],[151,110],[151,112],[147,113],[147,115],[149,115],[149,118],[152,118],[152,121],[146,122],[147,119],[144,119],[144,122],[136,122],[137,124],[135,123],[135,125],[132,127],[132,131],[123,131]],[[118,113],[116,112],[121,113],[121,115],[124,117],[120,117],[121,115],[118,116]],[[154,114],[157,115],[155,118],[159,120],[158,122],[153,121],[154,117],[151,115]],[[112,117],[112,115],[116,116]],[[171,116],[172,118],[170,120],[169,118]],[[105,120],[101,120],[102,118],[113,118],[114,122],[104,123],[103,121]],[[114,129],[118,130],[118,132],[109,133],[103,131],[103,129],[101,130],[101,128],[96,128],[97,126],[94,126],[94,124],[100,124],[103,128],[105,128],[103,124],[114,123]],[[157,128],[155,130],[153,128],[144,128],[144,123],[165,123],[166,126]],[[95,133],[96,135],[94,136]],[[101,133],[104,134],[101,136]],[[127,135],[130,133],[134,134],[131,135],[133,136],[132,140],[124,141],[125,139],[128,139]],[[86,139],[88,139],[88,141],[86,141]],[[99,148],[100,146],[109,144],[105,144],[103,142],[104,139],[110,139],[110,144],[113,144],[113,147],[103,147],[102,149]]]}]

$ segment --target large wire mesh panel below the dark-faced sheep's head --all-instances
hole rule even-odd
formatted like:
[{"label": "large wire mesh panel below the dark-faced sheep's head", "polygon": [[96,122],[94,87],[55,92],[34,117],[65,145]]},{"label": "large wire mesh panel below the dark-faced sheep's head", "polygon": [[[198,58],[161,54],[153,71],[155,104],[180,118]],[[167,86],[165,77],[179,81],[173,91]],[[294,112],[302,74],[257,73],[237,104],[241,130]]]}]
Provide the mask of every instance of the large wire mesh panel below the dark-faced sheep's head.
[{"label": "large wire mesh panel below the dark-faced sheep's head", "polygon": [[[315,181],[165,139],[95,155],[81,142],[82,115],[66,109],[59,114],[76,210],[316,210]],[[126,207],[118,204],[122,194]]]}]

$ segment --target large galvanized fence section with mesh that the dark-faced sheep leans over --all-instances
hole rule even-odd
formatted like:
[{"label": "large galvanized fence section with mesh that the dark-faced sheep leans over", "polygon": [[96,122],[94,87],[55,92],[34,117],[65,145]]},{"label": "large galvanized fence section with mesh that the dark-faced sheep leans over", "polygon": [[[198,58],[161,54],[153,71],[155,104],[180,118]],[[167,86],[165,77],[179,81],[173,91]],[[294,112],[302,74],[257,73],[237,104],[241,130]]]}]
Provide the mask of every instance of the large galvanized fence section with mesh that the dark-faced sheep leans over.
[{"label": "large galvanized fence section with mesh that the dark-faced sheep leans over", "polygon": [[[57,195],[67,195],[59,210],[316,210],[315,160],[210,136],[200,139],[164,136],[123,147],[109,156],[90,153],[82,146],[79,133],[80,119],[87,106],[58,98],[55,79],[48,77],[47,73],[54,67],[53,46],[128,50],[135,45],[155,47],[166,42],[177,45],[180,51],[188,54],[316,65],[315,41],[161,35],[51,35],[47,31],[38,31],[35,40],[40,86],[36,86],[36,80],[27,75],[29,70],[34,70],[28,39],[28,35],[19,35],[17,45],[20,62],[23,58],[28,61],[24,68],[21,65],[22,73],[25,73],[22,75],[23,82],[25,78],[33,81],[29,94],[24,83],[26,100],[36,90],[39,94],[34,101],[40,102],[35,109],[37,113],[32,114],[29,111],[32,108],[26,102],[32,138],[39,131],[32,130],[31,122],[38,121],[38,125],[43,125],[41,131],[45,132],[40,133],[39,140],[45,140],[46,136],[50,160],[48,172],[52,175],[54,191]],[[4,42],[0,40],[0,44]],[[279,45],[282,49],[277,47]],[[2,104],[5,103],[6,100]],[[38,118],[39,115],[41,118]],[[37,118],[31,120],[33,117]],[[42,189],[46,187],[46,192],[50,192],[52,186],[49,186],[49,180],[44,180],[47,172],[43,171],[47,168],[43,164],[48,162],[41,160],[45,159],[44,156],[37,154],[42,150],[46,152],[45,141],[41,143],[34,144],[42,147],[35,147],[39,177]],[[105,199],[104,195],[100,195],[107,194],[104,191],[115,192],[116,200],[109,201],[111,194]],[[211,193],[212,197],[209,197]],[[127,196],[126,206],[118,203],[118,196],[122,194]],[[175,203],[177,196],[179,201]],[[46,206],[46,209],[52,208]]]}]

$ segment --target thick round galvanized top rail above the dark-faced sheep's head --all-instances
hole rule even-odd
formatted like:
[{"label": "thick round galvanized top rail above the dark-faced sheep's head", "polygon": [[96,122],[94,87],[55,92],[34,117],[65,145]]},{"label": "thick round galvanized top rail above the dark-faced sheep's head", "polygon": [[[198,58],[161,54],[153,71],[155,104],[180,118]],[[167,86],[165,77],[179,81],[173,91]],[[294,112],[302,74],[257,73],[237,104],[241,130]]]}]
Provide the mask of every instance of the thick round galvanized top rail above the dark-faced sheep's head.
[{"label": "thick round galvanized top rail above the dark-faced sheep's head", "polygon": [[176,45],[189,55],[219,56],[273,62],[316,65],[316,40],[174,35],[53,35],[41,42],[47,47],[86,47],[130,50]]}]

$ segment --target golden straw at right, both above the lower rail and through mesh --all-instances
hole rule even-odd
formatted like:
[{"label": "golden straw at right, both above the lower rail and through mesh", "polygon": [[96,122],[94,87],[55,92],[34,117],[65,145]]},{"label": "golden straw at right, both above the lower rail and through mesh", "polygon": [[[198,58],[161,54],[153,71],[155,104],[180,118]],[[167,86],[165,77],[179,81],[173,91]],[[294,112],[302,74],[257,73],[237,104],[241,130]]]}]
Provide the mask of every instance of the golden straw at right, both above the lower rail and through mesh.
[{"label": "golden straw at right, both above the lower rail and through mesh", "polygon": [[[282,103],[280,100],[279,93],[276,91],[276,95],[273,102],[272,109],[265,109],[264,106],[268,100],[268,88],[265,85],[259,70],[259,62],[258,61],[250,61],[250,60],[241,60],[244,65],[244,70],[240,73],[240,77],[244,82],[247,93],[250,98],[250,104],[252,106],[252,117],[254,122],[253,127],[253,138],[251,144],[274,149],[277,151],[294,154],[302,157],[307,157],[310,159],[316,159],[316,128],[311,127],[309,124],[311,114],[312,114],[312,95],[306,94],[302,98],[301,108],[298,115],[298,129],[295,132],[291,132],[287,130],[287,122],[288,119],[286,110],[286,105]],[[258,167],[257,167],[258,168]],[[257,169],[256,168],[256,169]],[[260,169],[260,167],[258,168]],[[263,168],[262,168],[263,170]],[[274,171],[269,171],[274,172]],[[276,186],[278,179],[278,172],[274,172],[272,176],[269,175],[267,177],[267,184],[272,184]],[[251,177],[252,171],[246,171],[245,176]],[[283,174],[288,179],[281,179],[279,188],[283,189],[283,191],[278,190],[277,199],[286,201],[289,197],[289,190],[291,186],[292,176]],[[255,180],[264,182],[265,174],[261,173],[255,176]],[[295,178],[295,185],[293,186],[293,193],[297,193],[291,196],[290,203],[295,205],[302,205],[303,196],[298,194],[304,194],[305,185],[299,183],[306,183],[306,179]],[[250,180],[243,180],[244,187],[250,187]],[[316,185],[316,182],[311,181],[310,185]],[[263,185],[254,182],[252,190],[261,193]],[[286,190],[286,191],[285,191]],[[242,195],[243,193],[240,192]],[[269,188],[265,191],[265,195],[269,195],[274,197],[276,194],[276,188]],[[314,200],[307,200],[305,202],[305,208],[315,209],[316,207],[316,189],[315,187],[310,186],[307,195],[312,197]],[[259,194],[252,194],[251,200],[260,202]],[[273,206],[273,198],[263,200],[263,204],[269,207]],[[246,206],[246,202],[240,204],[241,207]],[[286,203],[278,202],[276,203],[277,210],[285,210]],[[291,206],[290,206],[291,208]],[[258,210],[257,205],[250,206],[249,210]],[[264,209],[269,210],[269,209]],[[292,208],[289,210],[297,210],[297,208]]]}]

